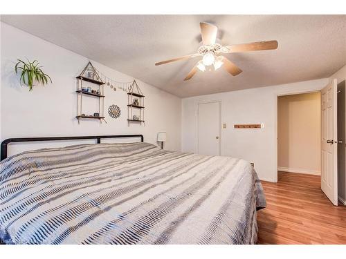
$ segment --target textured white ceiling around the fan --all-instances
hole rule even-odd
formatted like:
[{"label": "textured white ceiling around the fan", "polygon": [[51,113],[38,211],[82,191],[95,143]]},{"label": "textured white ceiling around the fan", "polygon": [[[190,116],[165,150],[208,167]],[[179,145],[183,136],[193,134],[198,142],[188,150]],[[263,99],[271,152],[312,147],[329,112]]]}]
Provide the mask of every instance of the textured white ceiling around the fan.
[{"label": "textured white ceiling around the fan", "polygon": [[[179,97],[329,77],[346,64],[346,15],[2,15],[1,21]],[[183,81],[199,57],[199,22],[221,44],[276,39],[277,50],[228,54],[243,73],[219,69]]]}]

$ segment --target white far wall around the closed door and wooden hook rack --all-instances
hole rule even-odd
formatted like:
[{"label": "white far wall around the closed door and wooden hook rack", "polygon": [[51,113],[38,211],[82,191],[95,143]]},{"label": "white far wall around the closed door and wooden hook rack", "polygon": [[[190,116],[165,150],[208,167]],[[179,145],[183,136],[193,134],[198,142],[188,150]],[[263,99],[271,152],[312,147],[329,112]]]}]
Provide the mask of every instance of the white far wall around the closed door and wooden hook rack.
[{"label": "white far wall around the closed door and wooden hook rack", "polygon": [[[277,182],[277,95],[320,90],[328,79],[280,86],[237,90],[184,98],[182,102],[182,151],[196,149],[197,103],[221,100],[221,155],[255,163],[261,180]],[[264,123],[261,129],[235,129],[233,124]]]}]

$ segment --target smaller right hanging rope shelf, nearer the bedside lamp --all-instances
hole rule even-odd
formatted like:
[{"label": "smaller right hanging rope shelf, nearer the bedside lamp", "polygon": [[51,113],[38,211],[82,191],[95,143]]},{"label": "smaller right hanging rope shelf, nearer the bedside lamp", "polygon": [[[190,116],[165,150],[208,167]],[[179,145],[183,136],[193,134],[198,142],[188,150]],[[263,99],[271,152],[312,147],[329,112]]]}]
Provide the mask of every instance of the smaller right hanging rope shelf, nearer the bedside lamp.
[{"label": "smaller right hanging rope shelf, nearer the bedside lamp", "polygon": [[[144,95],[140,90],[136,80],[134,80],[127,93],[127,124],[130,122],[140,122],[144,124]],[[135,111],[135,115],[133,114]]]}]

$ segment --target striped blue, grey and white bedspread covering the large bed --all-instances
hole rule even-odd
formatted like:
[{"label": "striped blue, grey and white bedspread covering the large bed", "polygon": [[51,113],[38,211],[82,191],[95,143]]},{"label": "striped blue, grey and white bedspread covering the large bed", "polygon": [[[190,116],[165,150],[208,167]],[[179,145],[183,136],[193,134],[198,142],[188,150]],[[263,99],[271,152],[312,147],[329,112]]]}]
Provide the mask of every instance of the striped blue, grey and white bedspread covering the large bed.
[{"label": "striped blue, grey and white bedspread covering the large bed", "polygon": [[0,163],[8,244],[253,244],[251,165],[147,143],[45,148]]}]

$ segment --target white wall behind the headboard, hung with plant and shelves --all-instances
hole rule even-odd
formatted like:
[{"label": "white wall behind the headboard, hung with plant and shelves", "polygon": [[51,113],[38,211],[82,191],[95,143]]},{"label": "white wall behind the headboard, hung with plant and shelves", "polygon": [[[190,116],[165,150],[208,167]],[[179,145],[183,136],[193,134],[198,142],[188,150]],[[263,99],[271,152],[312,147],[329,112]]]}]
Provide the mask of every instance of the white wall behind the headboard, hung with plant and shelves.
[{"label": "white wall behind the headboard, hung with plant and shelves", "polygon": [[[30,93],[28,88],[21,87],[14,68],[17,59],[25,58],[37,59],[53,84],[35,86]],[[88,61],[75,52],[1,23],[1,141],[8,137],[143,134],[145,142],[157,144],[156,134],[166,131],[165,148],[181,150],[181,99],[139,80],[145,95],[145,126],[127,126],[127,94],[120,90],[114,92],[107,86],[104,99],[107,124],[84,119],[78,125],[75,77]],[[117,81],[134,79],[95,61],[92,63]],[[83,102],[86,107],[86,102],[97,100],[83,97]],[[111,104],[120,107],[120,118],[109,117],[107,109]],[[98,112],[97,103],[90,106],[95,107],[90,113]]]}]

